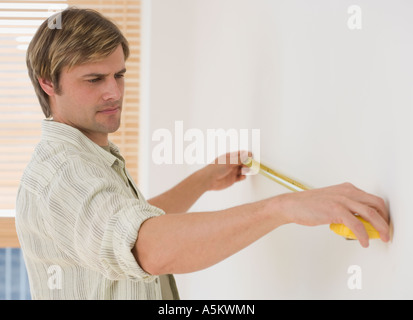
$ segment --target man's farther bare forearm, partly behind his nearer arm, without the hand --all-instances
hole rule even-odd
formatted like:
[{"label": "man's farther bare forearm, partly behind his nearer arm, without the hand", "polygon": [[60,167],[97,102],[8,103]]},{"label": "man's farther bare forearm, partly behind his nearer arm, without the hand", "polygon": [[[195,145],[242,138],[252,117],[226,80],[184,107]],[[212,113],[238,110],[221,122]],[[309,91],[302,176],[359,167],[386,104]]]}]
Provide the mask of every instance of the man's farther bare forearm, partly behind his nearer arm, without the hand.
[{"label": "man's farther bare forearm, partly behind his nearer arm, without the hand", "polygon": [[209,179],[204,170],[198,170],[172,189],[149,199],[148,202],[166,213],[187,212],[209,189]]}]

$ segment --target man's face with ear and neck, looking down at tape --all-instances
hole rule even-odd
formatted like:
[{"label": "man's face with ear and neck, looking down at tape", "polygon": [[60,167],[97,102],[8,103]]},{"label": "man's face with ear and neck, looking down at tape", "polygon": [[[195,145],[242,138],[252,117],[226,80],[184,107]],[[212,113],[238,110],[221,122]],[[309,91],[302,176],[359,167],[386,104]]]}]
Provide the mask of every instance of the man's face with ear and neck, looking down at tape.
[{"label": "man's face with ear and neck, looking down at tape", "polygon": [[53,120],[79,129],[101,146],[107,145],[108,133],[120,125],[125,72],[121,45],[98,62],[75,66],[70,71],[63,68]]}]

